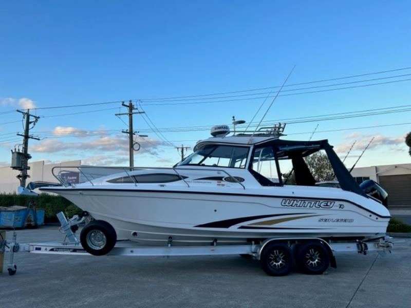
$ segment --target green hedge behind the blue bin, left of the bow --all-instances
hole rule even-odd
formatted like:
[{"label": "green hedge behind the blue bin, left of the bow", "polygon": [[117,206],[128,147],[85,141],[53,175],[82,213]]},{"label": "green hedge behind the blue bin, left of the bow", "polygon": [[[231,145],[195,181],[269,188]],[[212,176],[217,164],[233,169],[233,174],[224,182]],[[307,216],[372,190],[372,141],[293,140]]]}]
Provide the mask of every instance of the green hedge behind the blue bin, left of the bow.
[{"label": "green hedge behind the blue bin, left of the bow", "polygon": [[57,222],[55,216],[60,211],[66,213],[66,216],[80,215],[82,210],[61,196],[51,196],[41,194],[38,197],[21,196],[16,194],[0,194],[0,206],[22,205],[27,206],[30,200],[34,200],[36,208],[44,209],[45,222]]}]

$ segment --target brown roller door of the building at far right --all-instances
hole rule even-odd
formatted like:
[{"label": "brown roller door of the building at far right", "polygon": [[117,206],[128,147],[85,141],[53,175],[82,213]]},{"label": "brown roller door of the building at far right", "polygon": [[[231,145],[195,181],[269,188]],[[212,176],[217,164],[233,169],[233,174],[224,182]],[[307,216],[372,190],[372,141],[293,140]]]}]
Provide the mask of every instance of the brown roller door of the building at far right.
[{"label": "brown roller door of the building at far right", "polygon": [[378,180],[388,192],[388,206],[411,206],[411,175],[380,176]]}]

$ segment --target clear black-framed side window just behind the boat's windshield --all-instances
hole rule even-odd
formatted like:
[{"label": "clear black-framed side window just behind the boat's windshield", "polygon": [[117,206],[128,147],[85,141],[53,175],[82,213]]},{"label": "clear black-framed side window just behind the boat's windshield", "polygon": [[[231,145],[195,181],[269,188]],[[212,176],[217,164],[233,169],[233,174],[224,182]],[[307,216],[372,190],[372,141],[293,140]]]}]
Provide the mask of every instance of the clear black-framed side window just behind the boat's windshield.
[{"label": "clear black-framed side window just behind the boat's windshield", "polygon": [[256,148],[252,158],[253,170],[273,183],[279,183],[272,146]]}]

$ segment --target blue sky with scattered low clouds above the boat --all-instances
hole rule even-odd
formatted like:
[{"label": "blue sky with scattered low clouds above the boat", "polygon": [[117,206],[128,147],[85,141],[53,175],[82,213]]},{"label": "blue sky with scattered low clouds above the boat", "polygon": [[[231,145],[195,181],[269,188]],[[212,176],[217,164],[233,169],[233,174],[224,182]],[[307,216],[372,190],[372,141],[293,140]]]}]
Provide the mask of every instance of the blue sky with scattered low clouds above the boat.
[{"label": "blue sky with scattered low clouds above the boat", "polygon": [[[26,108],[40,117],[30,130],[41,139],[29,141],[32,162],[127,165],[128,120],[115,113],[133,100],[145,111],[134,128],[148,135],[136,137],[135,165],[172,166],[175,146],[192,150],[233,115],[249,123],[271,90],[258,122],[278,90],[261,88],[282,85],[294,66],[264,121],[289,119],[293,140],[318,125],[312,138],[328,139],[341,157],[356,141],[347,166],[372,137],[357,166],[409,163],[410,10],[409,1],[3,2],[0,165],[22,143],[15,110]],[[345,78],[353,75],[362,76]],[[319,80],[329,81],[309,83]],[[181,98],[226,92],[235,93]],[[290,120],[303,117],[310,121]]]}]

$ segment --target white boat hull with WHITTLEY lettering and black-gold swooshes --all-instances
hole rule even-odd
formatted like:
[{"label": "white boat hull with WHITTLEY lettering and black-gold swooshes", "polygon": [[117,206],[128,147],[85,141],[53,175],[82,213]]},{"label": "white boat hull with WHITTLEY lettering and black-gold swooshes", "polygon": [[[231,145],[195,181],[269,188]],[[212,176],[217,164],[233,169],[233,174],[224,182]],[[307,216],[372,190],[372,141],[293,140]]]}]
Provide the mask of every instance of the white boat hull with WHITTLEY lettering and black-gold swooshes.
[{"label": "white boat hull with WHITTLEY lettering and black-gold swooshes", "polygon": [[[334,198],[313,197],[327,189],[334,191]],[[170,240],[173,245],[210,245],[215,240],[239,244],[271,237],[376,237],[385,234],[389,220],[348,198],[336,199],[337,190],[341,196],[355,194],[334,188],[312,187],[307,191],[309,197],[294,192],[285,197],[275,195],[280,190],[272,187],[270,195],[240,189],[233,193],[137,187],[44,190],[56,192],[95,219],[107,221],[118,239],[148,245],[165,245]]]}]

